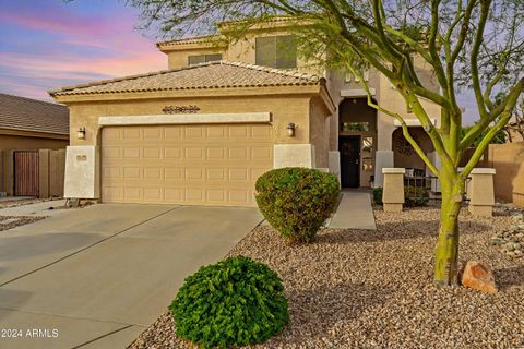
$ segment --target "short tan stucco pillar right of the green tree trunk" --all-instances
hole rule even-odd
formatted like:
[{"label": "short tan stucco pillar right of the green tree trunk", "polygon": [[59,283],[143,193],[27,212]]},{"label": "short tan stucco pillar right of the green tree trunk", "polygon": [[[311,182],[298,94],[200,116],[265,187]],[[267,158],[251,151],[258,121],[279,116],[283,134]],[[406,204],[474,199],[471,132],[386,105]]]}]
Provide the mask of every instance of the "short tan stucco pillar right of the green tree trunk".
[{"label": "short tan stucco pillar right of the green tree trunk", "polygon": [[469,174],[472,180],[467,185],[468,209],[475,216],[491,217],[493,215],[495,172],[495,168],[474,168]]}]

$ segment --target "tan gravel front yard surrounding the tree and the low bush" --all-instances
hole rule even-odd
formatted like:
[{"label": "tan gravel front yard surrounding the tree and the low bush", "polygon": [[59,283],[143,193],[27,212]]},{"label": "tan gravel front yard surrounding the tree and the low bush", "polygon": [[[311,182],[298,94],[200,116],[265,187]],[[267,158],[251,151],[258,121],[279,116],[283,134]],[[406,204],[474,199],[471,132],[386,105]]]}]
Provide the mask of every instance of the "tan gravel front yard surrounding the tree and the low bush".
[{"label": "tan gravel front yard surrounding the tree and the low bush", "polygon": [[[490,245],[512,217],[461,216],[461,261],[490,265],[497,294],[432,286],[438,209],[377,210],[376,218],[378,231],[327,229],[297,246],[260,226],[234,248],[229,255],[276,270],[289,300],[284,333],[254,348],[524,347],[524,258]],[[130,348],[193,347],[174,335],[166,312]]]}]

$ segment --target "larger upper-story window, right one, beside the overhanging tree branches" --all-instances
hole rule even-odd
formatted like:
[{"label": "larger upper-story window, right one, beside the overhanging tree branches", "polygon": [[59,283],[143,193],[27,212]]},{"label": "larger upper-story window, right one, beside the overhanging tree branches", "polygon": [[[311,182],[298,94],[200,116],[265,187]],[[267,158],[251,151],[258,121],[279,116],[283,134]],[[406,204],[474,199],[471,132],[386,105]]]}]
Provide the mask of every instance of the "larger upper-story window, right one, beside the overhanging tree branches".
[{"label": "larger upper-story window, right one, beside the overhanging tree branches", "polygon": [[297,41],[294,35],[258,37],[255,40],[257,65],[290,69],[297,68]]}]

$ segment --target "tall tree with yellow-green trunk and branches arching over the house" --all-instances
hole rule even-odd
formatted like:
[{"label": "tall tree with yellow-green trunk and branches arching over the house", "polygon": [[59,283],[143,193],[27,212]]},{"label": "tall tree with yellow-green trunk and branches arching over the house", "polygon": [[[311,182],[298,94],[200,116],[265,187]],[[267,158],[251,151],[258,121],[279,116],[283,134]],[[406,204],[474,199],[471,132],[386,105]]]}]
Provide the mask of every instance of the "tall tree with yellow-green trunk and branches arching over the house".
[{"label": "tall tree with yellow-green trunk and branches arching over the house", "polygon": [[[458,273],[458,213],[464,182],[491,140],[511,118],[524,88],[522,0],[128,0],[141,10],[143,27],[167,37],[213,32],[228,39],[273,16],[289,16],[299,53],[325,67],[344,68],[368,91],[368,104],[402,124],[404,136],[441,182],[442,207],[436,246],[434,282],[451,286]],[[300,44],[301,43],[301,44]],[[414,57],[432,68],[438,86],[425,85]],[[414,141],[403,116],[373,103],[362,67],[383,74],[405,99],[431,139],[437,168]],[[478,122],[463,136],[456,96],[473,88]],[[493,92],[503,92],[495,98]],[[441,109],[433,125],[422,99]],[[462,172],[464,151],[484,134]]]}]

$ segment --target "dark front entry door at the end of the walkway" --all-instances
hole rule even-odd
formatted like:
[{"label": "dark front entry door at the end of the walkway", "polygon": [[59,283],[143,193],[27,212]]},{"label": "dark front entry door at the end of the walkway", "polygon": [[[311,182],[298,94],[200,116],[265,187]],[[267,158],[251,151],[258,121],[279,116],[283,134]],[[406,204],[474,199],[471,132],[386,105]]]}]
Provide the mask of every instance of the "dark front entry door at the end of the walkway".
[{"label": "dark front entry door at the end of the walkway", "polygon": [[341,152],[342,188],[360,186],[360,136],[341,136],[338,149]]}]

